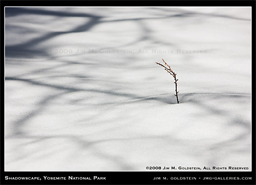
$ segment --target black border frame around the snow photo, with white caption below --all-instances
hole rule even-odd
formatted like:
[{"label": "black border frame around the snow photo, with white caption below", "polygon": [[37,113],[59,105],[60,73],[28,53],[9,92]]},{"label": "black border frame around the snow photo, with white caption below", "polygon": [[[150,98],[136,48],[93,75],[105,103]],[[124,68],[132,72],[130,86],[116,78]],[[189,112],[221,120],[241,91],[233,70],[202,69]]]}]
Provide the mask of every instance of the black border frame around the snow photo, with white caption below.
[{"label": "black border frame around the snow photo, with white caption below", "polygon": [[[145,6],[252,6],[252,172],[5,172],[4,171],[4,7],[5,6],[139,6],[143,4]],[[80,184],[112,184],[112,185],[128,185],[128,184],[140,184],[140,185],[164,185],[164,184],[177,184],[177,185],[256,185],[256,127],[255,127],[255,19],[256,19],[256,1],[255,0],[175,0],[175,1],[84,1],[84,0],[62,0],[62,1],[32,1],[32,0],[1,0],[0,1],[0,15],[1,15],[1,124],[0,124],[0,184],[1,185],[80,185]],[[85,175],[86,173],[86,175]],[[206,175],[207,174],[207,175]],[[5,180],[4,177],[41,177],[42,181],[34,180]],[[67,176],[78,176],[78,177],[106,177],[106,180],[97,181],[84,181],[84,180],[43,180],[43,176],[49,177],[67,177]],[[252,180],[207,180],[203,181],[202,178],[208,177],[252,177]],[[158,180],[153,181],[154,177],[196,177],[197,180]],[[198,179],[201,177],[201,179]]]}]

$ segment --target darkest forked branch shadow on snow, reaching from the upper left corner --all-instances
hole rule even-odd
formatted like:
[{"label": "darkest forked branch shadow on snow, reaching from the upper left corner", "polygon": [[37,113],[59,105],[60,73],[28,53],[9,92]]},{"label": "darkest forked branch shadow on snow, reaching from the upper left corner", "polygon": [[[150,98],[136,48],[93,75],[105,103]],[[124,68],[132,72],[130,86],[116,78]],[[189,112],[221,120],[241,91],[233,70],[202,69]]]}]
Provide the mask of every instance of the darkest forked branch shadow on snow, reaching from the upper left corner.
[{"label": "darkest forked branch shadow on snow, reaching from the upper left corner", "polygon": [[[43,16],[57,16],[57,17],[85,17],[90,18],[89,21],[86,21],[84,24],[81,24],[69,31],[52,31],[47,32],[44,35],[41,35],[36,38],[32,38],[27,42],[15,44],[11,46],[5,46],[5,56],[6,57],[51,57],[49,56],[49,53],[46,51],[47,49],[34,49],[34,46],[38,46],[41,43],[50,40],[52,38],[55,38],[60,35],[68,34],[68,33],[75,33],[75,32],[85,32],[89,31],[96,25],[99,25],[101,23],[119,23],[119,22],[125,22],[125,21],[133,21],[137,24],[137,26],[141,30],[141,36],[134,41],[128,42],[126,44],[117,45],[115,47],[104,47],[99,48],[100,49],[116,49],[117,47],[128,47],[132,46],[134,44],[138,44],[139,42],[142,42],[144,40],[152,40],[155,43],[162,43],[166,46],[173,46],[171,42],[167,41],[161,41],[155,40],[154,37],[150,36],[151,30],[149,27],[147,27],[146,24],[144,24],[142,21],[147,19],[166,19],[171,17],[187,17],[189,16],[189,13],[181,13],[181,14],[175,14],[175,15],[168,15],[168,16],[162,16],[162,17],[152,17],[152,18],[130,18],[130,19],[117,19],[117,20],[103,20],[104,17],[97,16],[93,14],[87,14],[87,13],[74,13],[74,12],[62,12],[62,11],[53,11],[53,10],[46,10],[46,9],[33,9],[33,8],[6,8],[5,15],[6,17],[12,17],[12,16],[19,16],[19,15],[43,15]],[[39,20],[40,22],[40,20]],[[27,28],[23,28],[27,29]],[[27,29],[28,30],[28,29]],[[8,44],[8,42],[6,42]]]}]

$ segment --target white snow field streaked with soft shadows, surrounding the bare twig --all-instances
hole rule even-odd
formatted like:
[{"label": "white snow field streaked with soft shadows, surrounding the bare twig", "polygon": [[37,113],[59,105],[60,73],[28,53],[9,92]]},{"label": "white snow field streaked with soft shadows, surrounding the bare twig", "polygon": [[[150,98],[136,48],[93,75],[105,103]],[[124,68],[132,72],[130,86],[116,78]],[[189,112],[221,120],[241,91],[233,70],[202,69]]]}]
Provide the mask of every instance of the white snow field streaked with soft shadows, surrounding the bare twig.
[{"label": "white snow field streaked with soft shadows, surrounding the bare twig", "polygon": [[251,171],[250,7],[7,7],[5,46],[5,171]]}]

